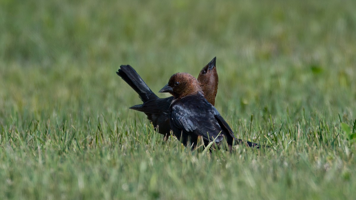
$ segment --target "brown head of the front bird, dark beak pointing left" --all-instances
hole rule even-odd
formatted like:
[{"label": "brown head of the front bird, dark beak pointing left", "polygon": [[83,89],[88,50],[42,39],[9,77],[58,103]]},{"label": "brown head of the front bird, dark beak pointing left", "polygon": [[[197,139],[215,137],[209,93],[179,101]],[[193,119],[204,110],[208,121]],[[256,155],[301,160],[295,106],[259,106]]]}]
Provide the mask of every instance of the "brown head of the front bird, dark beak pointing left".
[{"label": "brown head of the front bird, dark beak pointing left", "polygon": [[188,73],[173,74],[168,84],[159,90],[159,92],[171,93],[174,99],[180,99],[184,96],[194,94],[203,95],[198,80]]}]

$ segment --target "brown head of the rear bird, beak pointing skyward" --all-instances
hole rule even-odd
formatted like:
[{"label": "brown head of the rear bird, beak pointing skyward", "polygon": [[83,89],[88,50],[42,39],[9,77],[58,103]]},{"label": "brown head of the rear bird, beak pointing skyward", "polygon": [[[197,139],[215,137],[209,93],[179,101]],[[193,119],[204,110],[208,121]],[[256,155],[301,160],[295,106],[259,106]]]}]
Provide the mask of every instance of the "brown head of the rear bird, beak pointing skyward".
[{"label": "brown head of the rear bird, beak pointing skyward", "polygon": [[204,97],[215,105],[216,93],[218,93],[218,72],[216,72],[216,57],[213,58],[203,69],[201,69],[198,81],[203,89]]}]

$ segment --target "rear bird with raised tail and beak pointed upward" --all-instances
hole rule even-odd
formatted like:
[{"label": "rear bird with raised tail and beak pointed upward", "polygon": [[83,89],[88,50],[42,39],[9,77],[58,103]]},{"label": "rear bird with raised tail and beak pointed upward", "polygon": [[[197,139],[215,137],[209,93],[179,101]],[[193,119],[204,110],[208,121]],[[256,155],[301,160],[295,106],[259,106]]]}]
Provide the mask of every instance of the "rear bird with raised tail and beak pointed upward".
[{"label": "rear bird with raised tail and beak pointed upward", "polygon": [[[159,98],[130,65],[121,65],[116,74],[136,91],[143,102],[143,104],[132,106],[130,109],[144,112],[147,119],[152,122],[154,129],[163,135],[164,140],[167,140],[171,135],[168,109],[173,96]],[[203,91],[208,101],[214,105],[219,81],[216,72],[216,57],[201,69],[198,80],[201,81],[201,86],[204,88]]]}]

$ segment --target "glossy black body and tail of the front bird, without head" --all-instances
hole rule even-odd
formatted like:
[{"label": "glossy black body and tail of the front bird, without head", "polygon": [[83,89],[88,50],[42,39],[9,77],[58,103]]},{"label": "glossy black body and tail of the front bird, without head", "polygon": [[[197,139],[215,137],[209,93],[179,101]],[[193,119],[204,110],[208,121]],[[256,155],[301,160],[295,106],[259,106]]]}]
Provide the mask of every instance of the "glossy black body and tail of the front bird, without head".
[{"label": "glossy black body and tail of the front bird, without head", "polygon": [[213,140],[219,144],[225,138],[229,146],[235,141],[236,144],[259,148],[256,143],[235,138],[230,126],[201,93],[174,99],[169,108],[169,118],[173,134],[185,146],[189,141],[193,147],[196,146],[201,136],[205,146]]}]

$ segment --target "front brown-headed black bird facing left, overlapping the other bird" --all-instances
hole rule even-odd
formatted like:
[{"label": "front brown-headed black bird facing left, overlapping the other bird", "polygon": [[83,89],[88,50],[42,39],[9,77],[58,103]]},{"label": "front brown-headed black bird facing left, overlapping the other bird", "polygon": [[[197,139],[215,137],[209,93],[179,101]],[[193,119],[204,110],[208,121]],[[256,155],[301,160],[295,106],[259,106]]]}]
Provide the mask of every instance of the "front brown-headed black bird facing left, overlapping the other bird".
[{"label": "front brown-headed black bird facing left, overlapping the other bird", "polygon": [[[169,79],[160,93],[170,93],[173,100],[169,107],[169,123],[173,135],[184,146],[197,147],[198,138],[205,146],[214,141],[218,146],[226,141],[231,151],[233,144],[244,144],[248,147],[260,148],[257,143],[244,141],[234,136],[230,126],[204,98],[199,81],[188,73],[176,73]],[[190,142],[190,143],[189,143]]]}]

